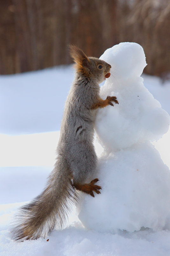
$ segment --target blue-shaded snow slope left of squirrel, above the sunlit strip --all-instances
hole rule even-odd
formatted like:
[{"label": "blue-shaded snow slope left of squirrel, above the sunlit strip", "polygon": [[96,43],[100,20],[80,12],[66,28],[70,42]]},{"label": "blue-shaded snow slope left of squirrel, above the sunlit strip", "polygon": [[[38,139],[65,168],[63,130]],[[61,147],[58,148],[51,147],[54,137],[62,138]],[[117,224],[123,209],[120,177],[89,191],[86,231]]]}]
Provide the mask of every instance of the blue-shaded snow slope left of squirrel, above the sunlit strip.
[{"label": "blue-shaded snow slope left of squirrel, above the sunlit strip", "polygon": [[72,66],[1,75],[0,133],[20,135],[59,130],[73,77]]}]

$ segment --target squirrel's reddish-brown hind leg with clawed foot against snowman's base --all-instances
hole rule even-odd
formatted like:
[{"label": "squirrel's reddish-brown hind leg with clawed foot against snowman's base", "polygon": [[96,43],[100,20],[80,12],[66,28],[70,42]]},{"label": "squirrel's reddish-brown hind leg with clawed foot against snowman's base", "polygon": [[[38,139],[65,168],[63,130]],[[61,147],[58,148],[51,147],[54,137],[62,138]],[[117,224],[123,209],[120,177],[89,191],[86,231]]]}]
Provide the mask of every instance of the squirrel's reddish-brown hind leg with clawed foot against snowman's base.
[{"label": "squirrel's reddish-brown hind leg with clawed foot against snowman's base", "polygon": [[85,183],[85,184],[80,184],[80,183],[74,183],[73,186],[80,191],[83,191],[86,194],[91,195],[94,197],[93,191],[96,192],[97,194],[100,194],[99,189],[102,189],[100,186],[94,185],[94,183],[98,182],[98,179],[92,180],[90,183]]}]

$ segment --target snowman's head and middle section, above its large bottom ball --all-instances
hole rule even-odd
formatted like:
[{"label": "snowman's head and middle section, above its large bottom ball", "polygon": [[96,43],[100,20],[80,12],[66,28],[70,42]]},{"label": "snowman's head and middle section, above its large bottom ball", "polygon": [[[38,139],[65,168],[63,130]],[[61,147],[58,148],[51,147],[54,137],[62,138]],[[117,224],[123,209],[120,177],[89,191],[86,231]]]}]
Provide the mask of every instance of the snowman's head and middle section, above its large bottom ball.
[{"label": "snowman's head and middle section, above its large bottom ball", "polygon": [[137,43],[120,43],[100,58],[111,64],[114,74],[112,81],[106,80],[101,88],[101,96],[114,95],[119,101],[114,109],[100,109],[96,118],[96,131],[105,149],[116,151],[160,139],[168,131],[170,117],[140,77],[146,66],[142,47]]}]

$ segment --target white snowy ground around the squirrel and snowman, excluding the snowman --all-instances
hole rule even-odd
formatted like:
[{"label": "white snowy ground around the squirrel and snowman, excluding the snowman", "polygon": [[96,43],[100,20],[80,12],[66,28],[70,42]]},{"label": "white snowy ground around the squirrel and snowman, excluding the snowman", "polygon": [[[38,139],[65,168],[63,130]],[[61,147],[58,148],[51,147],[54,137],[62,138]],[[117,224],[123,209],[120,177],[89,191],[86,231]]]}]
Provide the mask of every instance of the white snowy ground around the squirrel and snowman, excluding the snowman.
[{"label": "white snowy ground around the squirrel and snowman, excluding the snowman", "polygon": [[[161,84],[157,77],[142,77],[146,88],[170,114],[170,82]],[[55,130],[59,130],[72,80],[71,66],[0,76],[0,255],[169,256],[168,230],[99,233],[83,228],[76,212],[67,228],[52,232],[48,242],[11,240],[12,214],[43,189],[54,164],[59,138]],[[169,140],[170,131],[154,145],[170,168]],[[100,154],[97,143],[96,148]]]}]

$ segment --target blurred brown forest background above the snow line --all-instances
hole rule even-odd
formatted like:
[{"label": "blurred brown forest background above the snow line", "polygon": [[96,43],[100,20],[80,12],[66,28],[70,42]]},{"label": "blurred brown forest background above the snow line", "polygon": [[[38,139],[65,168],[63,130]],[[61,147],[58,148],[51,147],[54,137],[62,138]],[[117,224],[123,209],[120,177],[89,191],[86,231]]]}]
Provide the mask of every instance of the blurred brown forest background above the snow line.
[{"label": "blurred brown forest background above the snow line", "polygon": [[145,73],[170,73],[170,0],[1,0],[0,74],[69,64],[68,44],[99,57],[139,43]]}]

